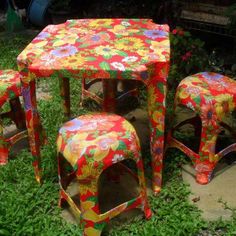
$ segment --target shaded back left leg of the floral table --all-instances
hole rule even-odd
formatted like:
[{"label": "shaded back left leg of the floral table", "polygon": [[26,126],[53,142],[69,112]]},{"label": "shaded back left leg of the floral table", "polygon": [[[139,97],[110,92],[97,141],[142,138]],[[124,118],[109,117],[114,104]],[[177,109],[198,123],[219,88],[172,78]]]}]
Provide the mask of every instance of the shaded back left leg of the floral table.
[{"label": "shaded back left leg of the floral table", "polygon": [[70,81],[69,78],[59,78],[60,95],[63,102],[64,116],[70,119]]}]

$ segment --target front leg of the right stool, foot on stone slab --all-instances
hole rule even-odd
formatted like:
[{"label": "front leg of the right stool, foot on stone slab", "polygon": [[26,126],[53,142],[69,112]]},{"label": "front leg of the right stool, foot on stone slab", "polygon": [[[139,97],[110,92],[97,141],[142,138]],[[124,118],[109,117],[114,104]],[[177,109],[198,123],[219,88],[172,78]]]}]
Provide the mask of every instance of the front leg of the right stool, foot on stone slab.
[{"label": "front leg of the right stool, foot on stone slab", "polygon": [[215,148],[219,132],[219,127],[202,126],[199,158],[195,160],[196,181],[199,184],[207,184],[212,179],[212,172],[218,162]]}]

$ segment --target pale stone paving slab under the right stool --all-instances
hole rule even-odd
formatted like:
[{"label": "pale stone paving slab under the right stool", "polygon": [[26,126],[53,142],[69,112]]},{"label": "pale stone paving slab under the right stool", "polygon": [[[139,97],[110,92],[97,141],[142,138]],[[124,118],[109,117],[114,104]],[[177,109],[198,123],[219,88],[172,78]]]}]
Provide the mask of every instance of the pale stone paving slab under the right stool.
[{"label": "pale stone paving slab under the right stool", "polygon": [[[231,211],[224,209],[223,202],[230,208],[236,208],[236,164],[218,164],[215,176],[207,185],[195,181],[195,170],[190,165],[182,168],[184,182],[190,185],[192,194],[189,200],[201,211],[206,220],[229,219]],[[221,202],[222,201],[222,202]]]}]

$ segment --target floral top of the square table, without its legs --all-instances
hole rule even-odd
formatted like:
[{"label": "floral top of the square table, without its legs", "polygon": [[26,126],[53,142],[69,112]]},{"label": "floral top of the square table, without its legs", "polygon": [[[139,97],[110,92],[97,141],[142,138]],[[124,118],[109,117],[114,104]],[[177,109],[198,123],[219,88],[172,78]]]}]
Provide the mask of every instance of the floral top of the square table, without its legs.
[{"label": "floral top of the square table, without its legs", "polygon": [[169,61],[169,27],[150,19],[82,19],[48,25],[18,56],[37,76],[145,80],[146,65]]}]

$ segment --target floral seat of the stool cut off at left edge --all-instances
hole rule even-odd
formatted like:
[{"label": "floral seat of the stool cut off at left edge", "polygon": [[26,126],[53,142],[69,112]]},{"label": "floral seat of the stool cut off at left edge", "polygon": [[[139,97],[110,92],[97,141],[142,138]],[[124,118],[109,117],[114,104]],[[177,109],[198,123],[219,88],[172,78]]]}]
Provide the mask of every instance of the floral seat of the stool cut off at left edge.
[{"label": "floral seat of the stool cut off at left edge", "polygon": [[14,70],[0,70],[0,106],[20,95],[20,74]]}]

